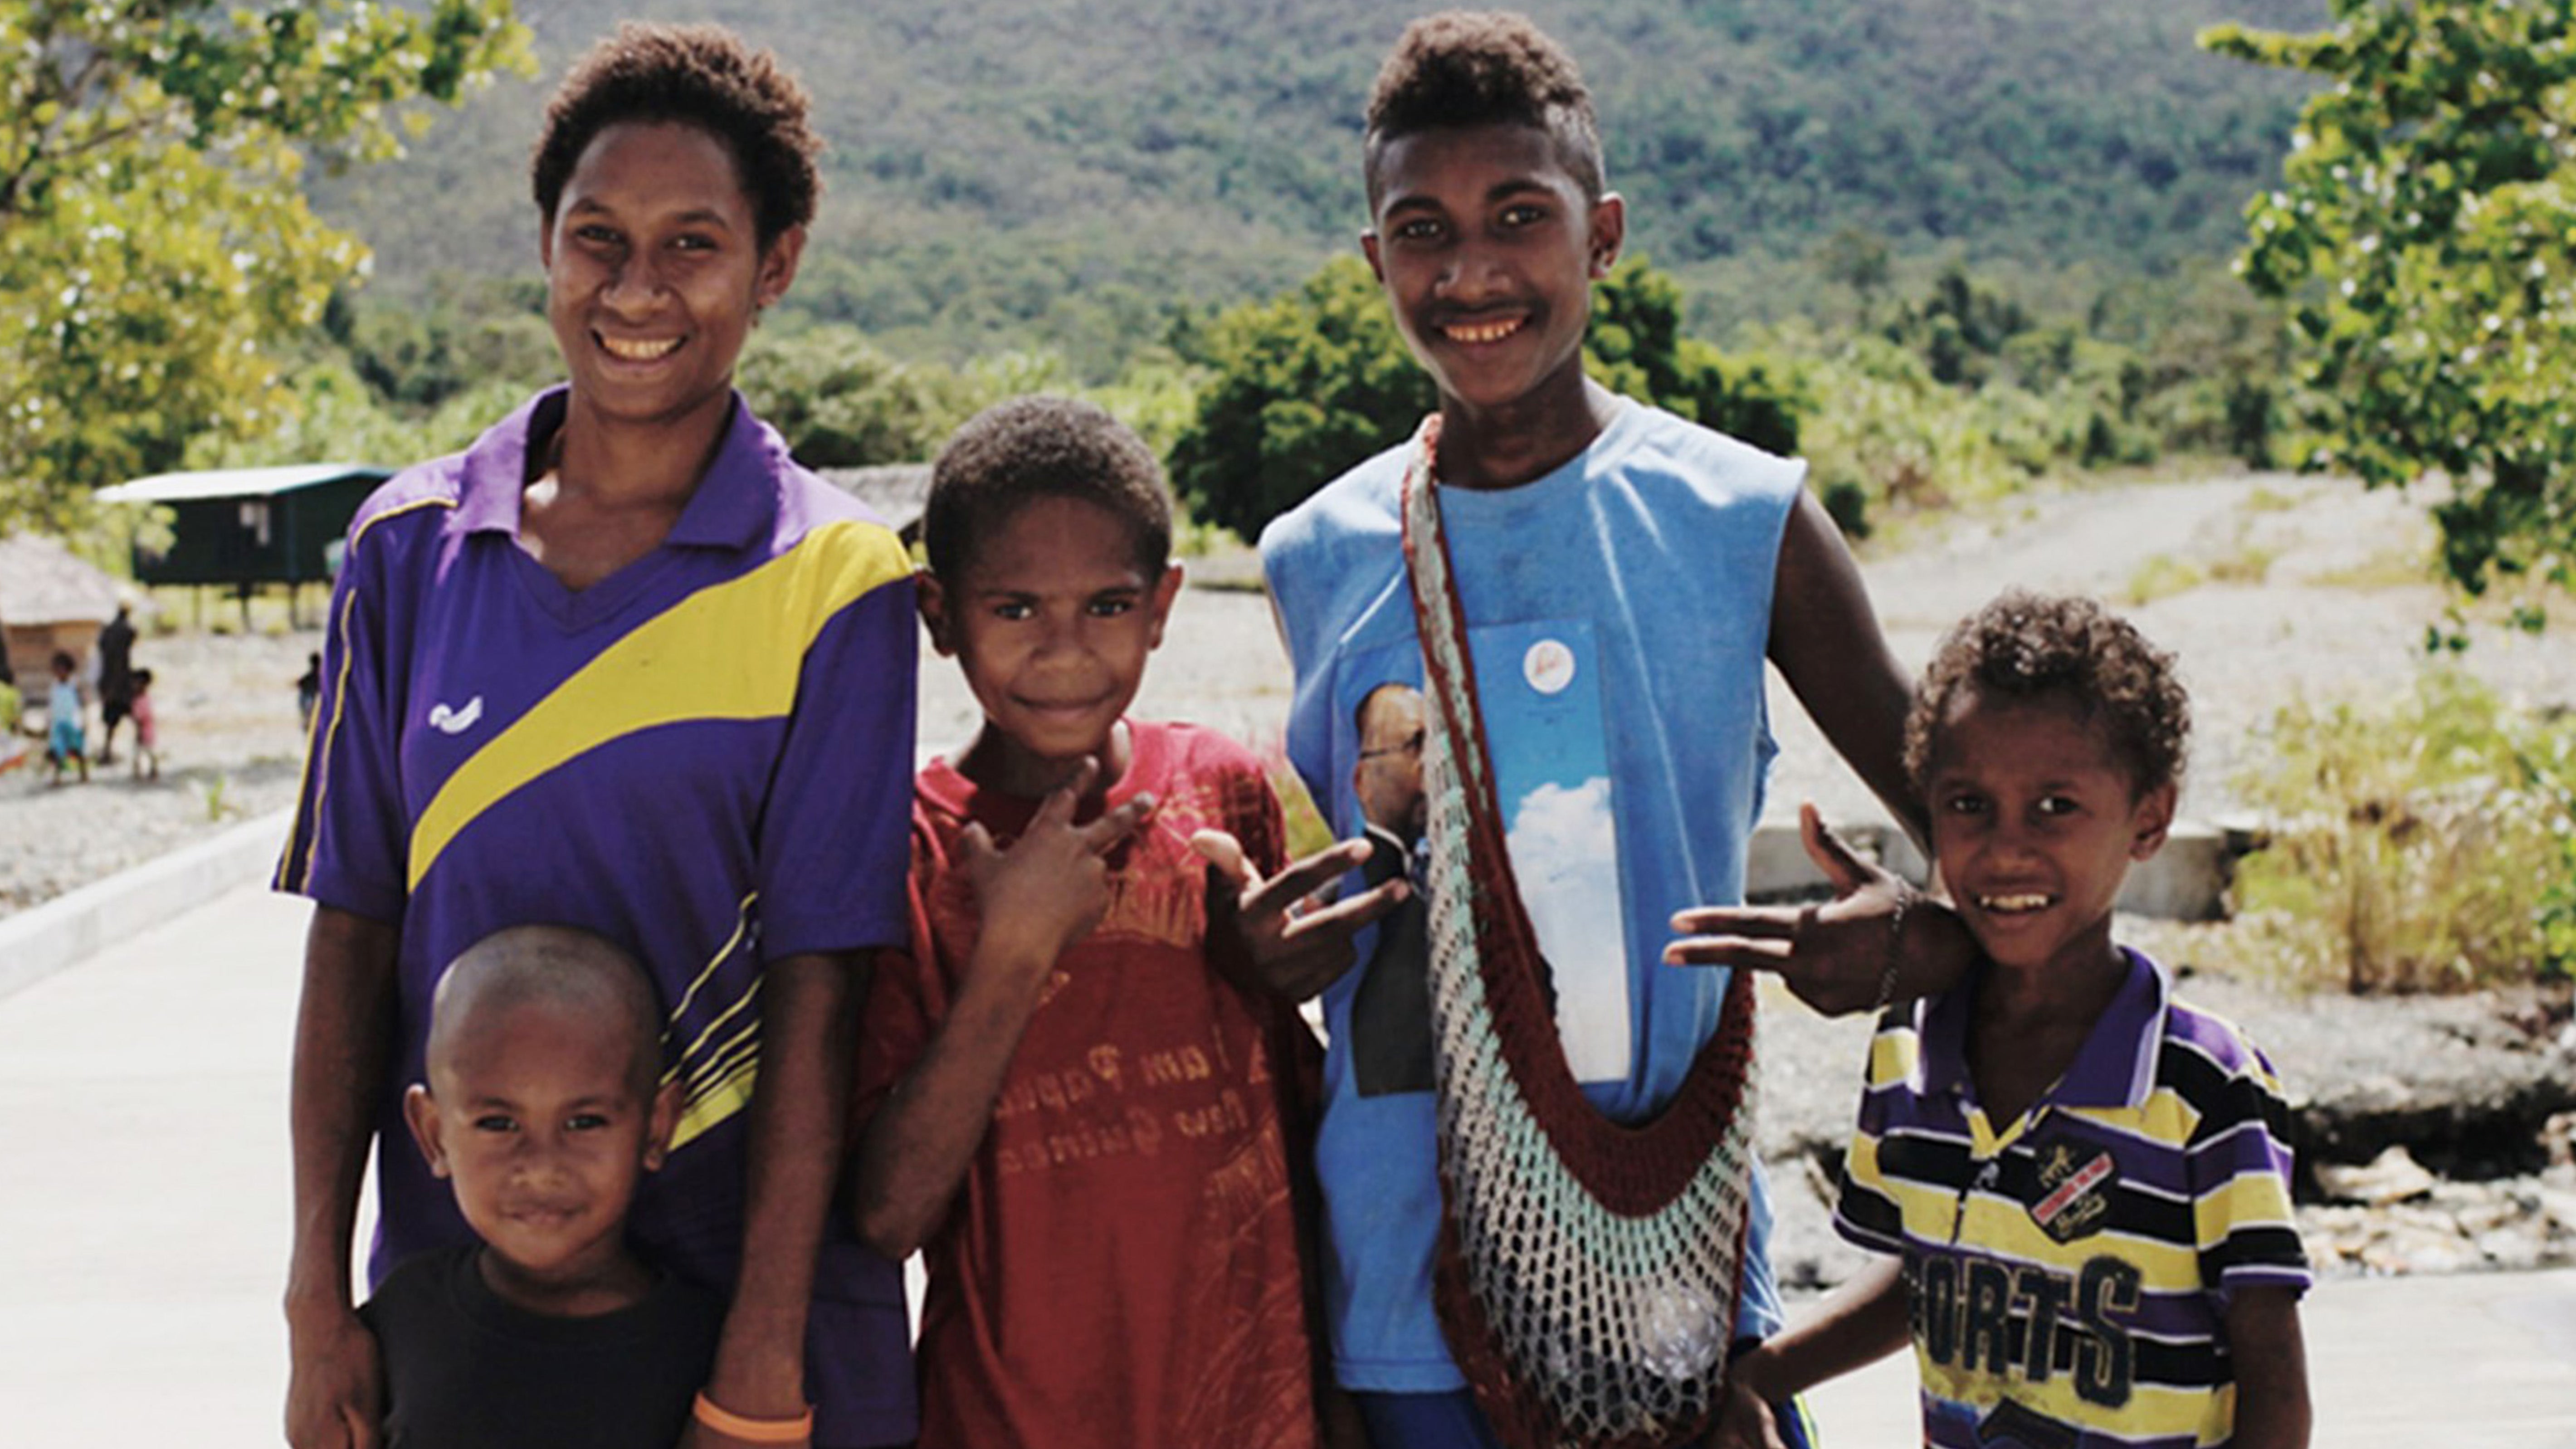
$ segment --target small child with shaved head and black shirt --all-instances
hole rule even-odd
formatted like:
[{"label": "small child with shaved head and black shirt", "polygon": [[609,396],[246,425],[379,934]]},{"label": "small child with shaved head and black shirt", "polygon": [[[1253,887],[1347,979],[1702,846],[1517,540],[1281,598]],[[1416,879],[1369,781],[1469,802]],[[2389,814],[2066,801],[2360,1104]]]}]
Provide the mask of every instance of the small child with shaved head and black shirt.
[{"label": "small child with shaved head and black shirt", "polygon": [[569,926],[513,926],[438,980],[404,1119],[479,1243],[404,1261],[361,1318],[392,1449],[667,1449],[724,1302],[626,1243],[680,1088],[644,969]]}]

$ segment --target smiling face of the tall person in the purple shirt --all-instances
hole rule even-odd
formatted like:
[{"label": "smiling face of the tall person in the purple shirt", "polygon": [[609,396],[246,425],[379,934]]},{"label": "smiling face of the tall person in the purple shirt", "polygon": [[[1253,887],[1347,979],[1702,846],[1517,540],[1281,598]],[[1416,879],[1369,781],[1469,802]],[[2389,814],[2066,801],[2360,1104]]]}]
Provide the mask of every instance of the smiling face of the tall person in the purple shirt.
[{"label": "smiling face of the tall person in the purple shirt", "polygon": [[[726,144],[680,121],[605,126],[541,240],[546,315],[572,374],[567,425],[714,441],[752,317],[786,294],[804,232],[760,245]],[[690,454],[696,456],[696,454]]]}]

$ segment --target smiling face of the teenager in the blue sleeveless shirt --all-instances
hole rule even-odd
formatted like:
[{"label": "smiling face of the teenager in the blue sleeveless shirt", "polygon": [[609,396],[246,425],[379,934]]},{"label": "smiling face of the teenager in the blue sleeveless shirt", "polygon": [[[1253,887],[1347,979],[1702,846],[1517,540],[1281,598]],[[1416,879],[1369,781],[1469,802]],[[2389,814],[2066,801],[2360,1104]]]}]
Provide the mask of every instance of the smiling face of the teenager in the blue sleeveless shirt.
[{"label": "smiling face of the teenager in the blue sleeveless shirt", "polygon": [[1370,180],[1360,248],[1440,387],[1443,438],[1492,413],[1584,418],[1584,327],[1618,260],[1620,199],[1587,199],[1548,129],[1512,121],[1391,137]]}]

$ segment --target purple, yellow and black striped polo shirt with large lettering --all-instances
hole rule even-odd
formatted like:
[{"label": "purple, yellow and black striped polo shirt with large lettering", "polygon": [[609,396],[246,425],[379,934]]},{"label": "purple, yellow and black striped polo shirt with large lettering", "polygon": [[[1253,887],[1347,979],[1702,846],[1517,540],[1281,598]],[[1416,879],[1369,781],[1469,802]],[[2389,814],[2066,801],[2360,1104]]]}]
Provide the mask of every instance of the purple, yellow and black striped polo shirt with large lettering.
[{"label": "purple, yellow and black striped polo shirt with large lettering", "polygon": [[2076,1062],[1994,1124],[1973,998],[1880,1018],[1834,1207],[1844,1238],[1904,1258],[1927,1444],[2226,1444],[2228,1294],[2311,1281],[2272,1065],[2128,951]]}]

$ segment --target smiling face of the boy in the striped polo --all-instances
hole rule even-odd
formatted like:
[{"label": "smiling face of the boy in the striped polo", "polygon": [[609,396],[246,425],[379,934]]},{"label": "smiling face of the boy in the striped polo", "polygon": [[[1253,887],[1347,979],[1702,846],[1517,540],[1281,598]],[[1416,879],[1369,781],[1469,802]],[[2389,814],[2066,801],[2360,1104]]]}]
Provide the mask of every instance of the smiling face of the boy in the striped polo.
[{"label": "smiling face of the boy in the striped polo", "polygon": [[2115,964],[2110,910],[2164,846],[2174,786],[2138,792],[2110,732],[2063,694],[1950,696],[1927,768],[1932,853],[2004,969]]}]

